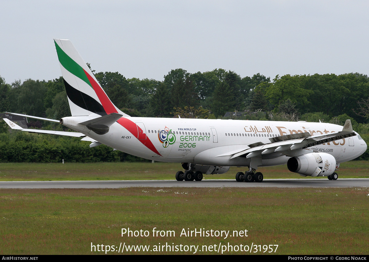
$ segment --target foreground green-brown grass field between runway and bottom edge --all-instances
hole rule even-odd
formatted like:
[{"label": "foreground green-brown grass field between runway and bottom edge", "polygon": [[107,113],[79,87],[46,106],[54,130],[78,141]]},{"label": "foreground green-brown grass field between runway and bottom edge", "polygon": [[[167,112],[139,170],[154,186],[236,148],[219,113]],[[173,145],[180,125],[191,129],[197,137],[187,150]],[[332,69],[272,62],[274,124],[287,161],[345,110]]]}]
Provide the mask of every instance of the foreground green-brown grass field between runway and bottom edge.
[{"label": "foreground green-brown grass field between runway and bottom edge", "polygon": [[[118,247],[168,242],[279,245],[273,254],[366,255],[368,200],[368,188],[1,189],[0,253],[105,254],[91,252],[91,242]],[[128,227],[150,236],[122,237],[121,228]],[[155,227],[176,235],[152,237]],[[180,237],[183,228],[248,230],[248,237]]]}]

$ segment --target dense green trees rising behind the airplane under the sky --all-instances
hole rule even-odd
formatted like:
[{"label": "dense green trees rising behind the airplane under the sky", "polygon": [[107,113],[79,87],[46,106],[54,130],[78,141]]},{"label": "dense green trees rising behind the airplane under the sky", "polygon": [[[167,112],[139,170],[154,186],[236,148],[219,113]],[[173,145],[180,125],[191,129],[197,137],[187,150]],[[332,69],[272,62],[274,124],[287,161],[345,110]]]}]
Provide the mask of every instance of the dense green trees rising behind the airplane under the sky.
[{"label": "dense green trees rising behind the airplane under the sky", "polygon": [[[118,72],[92,71],[111,101],[130,116],[224,118],[225,113],[232,112],[231,118],[249,120],[321,120],[343,124],[345,119],[351,119],[354,129],[369,142],[369,79],[360,73],[277,75],[270,80],[260,73],[241,77],[224,69],[197,73],[175,69],[159,81],[127,79]],[[52,119],[70,116],[62,77],[42,81],[27,79],[23,83],[18,80],[11,84],[0,77],[0,111]],[[46,127],[48,123],[42,124]],[[47,128],[62,130],[63,127],[50,125]],[[0,124],[0,132],[7,134],[4,124]],[[17,136],[7,136],[20,141]],[[4,144],[4,140],[0,143]],[[368,158],[369,154],[363,157]],[[85,161],[93,161],[89,158],[93,157]],[[100,160],[122,159],[127,160],[127,156]],[[0,161],[18,160],[0,156]],[[37,162],[34,159],[19,161]]]}]

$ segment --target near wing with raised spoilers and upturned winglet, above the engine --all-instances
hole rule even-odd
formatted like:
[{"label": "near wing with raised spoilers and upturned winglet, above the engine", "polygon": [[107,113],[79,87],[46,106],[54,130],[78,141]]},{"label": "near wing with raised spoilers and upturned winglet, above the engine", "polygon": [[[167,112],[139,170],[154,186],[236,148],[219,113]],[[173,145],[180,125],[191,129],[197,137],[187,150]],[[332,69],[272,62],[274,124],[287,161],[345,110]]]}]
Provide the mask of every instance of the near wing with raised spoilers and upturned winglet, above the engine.
[{"label": "near wing with raised spoilers and upturned winglet, above the engine", "polygon": [[311,136],[308,132],[305,132],[273,137],[269,139],[270,143],[268,144],[257,142],[255,144],[248,145],[249,148],[231,154],[230,159],[236,158],[238,156],[253,158],[256,156],[268,155],[275,152],[279,152],[286,156],[299,156],[310,153],[311,150],[309,150],[308,148],[311,146],[320,145],[343,138],[353,137],[355,135],[355,132],[352,130],[351,120],[346,120],[342,131],[314,136]]}]

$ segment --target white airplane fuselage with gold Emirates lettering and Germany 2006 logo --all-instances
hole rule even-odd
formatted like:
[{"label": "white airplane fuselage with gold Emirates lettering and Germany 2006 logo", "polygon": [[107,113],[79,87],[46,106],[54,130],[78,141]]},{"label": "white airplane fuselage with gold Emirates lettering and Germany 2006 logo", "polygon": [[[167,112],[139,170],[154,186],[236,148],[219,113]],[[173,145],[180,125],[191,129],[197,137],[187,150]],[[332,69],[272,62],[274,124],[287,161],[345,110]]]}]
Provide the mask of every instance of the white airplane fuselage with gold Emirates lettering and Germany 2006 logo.
[{"label": "white airplane fuselage with gold Emirates lettering and Germany 2006 logo", "polygon": [[[270,143],[272,137],[303,132],[314,136],[342,130],[339,125],[327,123],[122,117],[110,126],[107,134],[98,135],[77,124],[89,118],[63,119],[68,120],[64,125],[131,155],[162,162],[212,166],[249,166],[250,159],[243,156],[231,159],[231,155],[256,142]],[[360,156],[366,144],[355,135],[309,149],[331,154],[341,163]],[[275,152],[263,156],[259,166],[282,165],[289,158]]]}]

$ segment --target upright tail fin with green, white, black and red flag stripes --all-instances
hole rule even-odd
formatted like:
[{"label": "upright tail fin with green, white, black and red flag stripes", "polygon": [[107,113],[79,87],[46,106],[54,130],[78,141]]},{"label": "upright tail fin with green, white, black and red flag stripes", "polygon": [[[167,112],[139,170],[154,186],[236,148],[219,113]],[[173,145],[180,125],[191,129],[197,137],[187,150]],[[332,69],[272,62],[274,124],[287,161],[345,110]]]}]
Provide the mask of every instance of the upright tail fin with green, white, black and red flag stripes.
[{"label": "upright tail fin with green, white, black and red flag stripes", "polygon": [[105,116],[119,110],[110,101],[70,40],[54,39],[72,116]]}]

